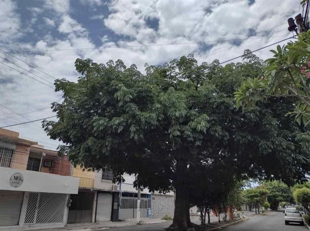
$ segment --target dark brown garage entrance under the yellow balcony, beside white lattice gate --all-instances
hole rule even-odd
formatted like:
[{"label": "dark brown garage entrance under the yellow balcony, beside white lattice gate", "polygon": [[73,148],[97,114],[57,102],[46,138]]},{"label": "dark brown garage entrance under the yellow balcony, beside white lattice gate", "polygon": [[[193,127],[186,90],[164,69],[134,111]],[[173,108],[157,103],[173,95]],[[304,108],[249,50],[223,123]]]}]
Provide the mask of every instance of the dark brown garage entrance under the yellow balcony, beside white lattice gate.
[{"label": "dark brown garage entrance under the yellow balcony, beside white lattice gate", "polygon": [[92,216],[93,193],[79,192],[71,195],[71,206],[69,207],[68,223],[89,223]]}]

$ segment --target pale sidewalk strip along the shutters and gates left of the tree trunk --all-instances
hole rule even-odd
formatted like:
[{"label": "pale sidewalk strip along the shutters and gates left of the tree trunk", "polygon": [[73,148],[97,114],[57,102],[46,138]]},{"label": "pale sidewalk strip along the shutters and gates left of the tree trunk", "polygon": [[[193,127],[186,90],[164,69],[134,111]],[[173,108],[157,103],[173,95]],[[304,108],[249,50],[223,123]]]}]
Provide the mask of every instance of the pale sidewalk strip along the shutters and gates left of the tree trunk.
[{"label": "pale sidewalk strip along the shutters and gates left of the tree trunk", "polygon": [[[143,224],[153,224],[153,223],[162,223],[167,220],[156,219],[156,218],[141,218],[140,221]],[[96,229],[104,230],[112,227],[124,227],[132,226],[137,224],[137,219],[126,219],[125,221],[101,221],[98,223],[75,223],[67,224],[65,227],[61,228],[46,228],[46,229],[33,229],[36,231],[94,231]]]}]

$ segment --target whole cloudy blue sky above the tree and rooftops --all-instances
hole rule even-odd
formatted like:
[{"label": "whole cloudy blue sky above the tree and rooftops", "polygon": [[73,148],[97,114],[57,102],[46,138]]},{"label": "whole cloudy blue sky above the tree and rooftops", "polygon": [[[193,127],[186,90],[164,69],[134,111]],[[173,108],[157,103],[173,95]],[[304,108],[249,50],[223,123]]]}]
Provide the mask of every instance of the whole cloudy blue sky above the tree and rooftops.
[{"label": "whole cloudy blue sky above the tree and rooftops", "polygon": [[[299,0],[0,0],[0,127],[55,115],[50,104],[62,94],[53,82],[76,81],[77,58],[121,59],[142,73],[188,54],[222,62],[290,37],[287,19],[300,10]],[[274,48],[255,54],[267,59]],[[60,144],[40,121],[7,129]]]}]

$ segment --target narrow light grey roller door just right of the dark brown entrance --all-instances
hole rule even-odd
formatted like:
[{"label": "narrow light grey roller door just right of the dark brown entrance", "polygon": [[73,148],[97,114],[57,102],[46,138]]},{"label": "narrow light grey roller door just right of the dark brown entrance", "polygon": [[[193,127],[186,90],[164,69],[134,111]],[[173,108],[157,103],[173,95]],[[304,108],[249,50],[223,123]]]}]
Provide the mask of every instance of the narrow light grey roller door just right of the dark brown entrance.
[{"label": "narrow light grey roller door just right of the dark brown entrance", "polygon": [[98,193],[96,221],[111,220],[112,194]]}]

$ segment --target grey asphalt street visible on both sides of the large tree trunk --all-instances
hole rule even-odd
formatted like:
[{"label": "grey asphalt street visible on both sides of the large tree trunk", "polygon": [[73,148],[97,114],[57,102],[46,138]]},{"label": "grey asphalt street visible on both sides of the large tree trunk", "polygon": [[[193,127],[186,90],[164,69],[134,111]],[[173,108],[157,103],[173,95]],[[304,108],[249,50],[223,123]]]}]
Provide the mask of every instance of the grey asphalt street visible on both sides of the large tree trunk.
[{"label": "grey asphalt street visible on both sides of the large tree trunk", "polygon": [[[271,212],[268,215],[248,217],[249,219],[235,225],[227,226],[222,230],[225,231],[305,231],[306,227],[299,224],[285,225],[282,212]],[[197,218],[192,218],[192,222],[198,223]],[[171,221],[156,223],[156,224],[143,224],[130,227],[111,228],[111,231],[164,231]]]}]

